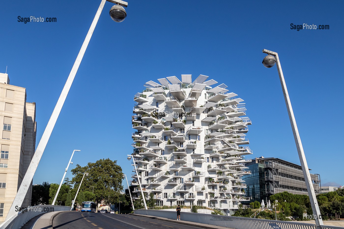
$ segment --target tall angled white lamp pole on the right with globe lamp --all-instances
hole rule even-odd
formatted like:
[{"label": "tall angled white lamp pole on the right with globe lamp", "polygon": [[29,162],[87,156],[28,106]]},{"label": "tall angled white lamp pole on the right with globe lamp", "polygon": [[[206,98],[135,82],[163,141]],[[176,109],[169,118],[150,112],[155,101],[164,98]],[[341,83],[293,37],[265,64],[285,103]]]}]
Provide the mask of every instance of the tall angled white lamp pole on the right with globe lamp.
[{"label": "tall angled white lamp pole on the right with globe lamp", "polygon": [[281,81],[282,90],[283,90],[284,100],[286,100],[286,105],[287,105],[287,110],[288,110],[288,114],[289,114],[290,124],[291,124],[291,128],[292,128],[293,134],[294,134],[296,148],[298,150],[298,154],[299,154],[299,158],[300,158],[300,163],[301,163],[301,167],[302,167],[302,171],[303,171],[303,176],[304,176],[304,180],[306,182],[306,187],[307,187],[307,192],[308,192],[308,195],[309,195],[309,200],[311,202],[313,214],[316,215],[315,226],[316,226],[317,229],[321,229],[320,225],[323,225],[323,221],[322,221],[322,218],[321,218],[318,201],[316,200],[316,196],[315,196],[315,192],[314,192],[314,187],[313,187],[313,184],[312,184],[312,178],[311,178],[311,175],[309,173],[306,157],[305,157],[304,152],[303,152],[303,147],[302,147],[302,143],[301,143],[301,138],[300,138],[299,130],[298,130],[298,127],[296,125],[293,108],[291,107],[291,102],[290,102],[290,99],[289,99],[289,94],[288,94],[286,82],[284,81],[284,76],[283,76],[281,64],[280,64],[280,61],[279,61],[279,58],[278,58],[278,54],[275,53],[275,52],[266,50],[266,49],[263,49],[263,53],[267,53],[268,54],[266,57],[264,57],[263,62],[262,62],[265,67],[270,68],[273,65],[275,65],[275,63],[276,63],[276,66],[277,66],[278,75],[279,75],[279,78],[280,78],[280,81]]}]

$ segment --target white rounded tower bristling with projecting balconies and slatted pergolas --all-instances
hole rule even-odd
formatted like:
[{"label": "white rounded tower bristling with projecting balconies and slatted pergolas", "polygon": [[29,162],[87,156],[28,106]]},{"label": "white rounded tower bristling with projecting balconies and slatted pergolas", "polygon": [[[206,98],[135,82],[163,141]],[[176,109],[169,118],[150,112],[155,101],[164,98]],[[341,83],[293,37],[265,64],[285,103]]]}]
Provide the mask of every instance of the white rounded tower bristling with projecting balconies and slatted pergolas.
[{"label": "white rounded tower bristling with projecting balconies and slatted pergolas", "polygon": [[[157,205],[202,205],[231,215],[249,200],[241,176],[250,173],[251,121],[244,100],[207,78],[172,76],[144,85],[134,97],[132,155],[143,192],[152,192]],[[132,178],[137,198],[138,177]]]}]

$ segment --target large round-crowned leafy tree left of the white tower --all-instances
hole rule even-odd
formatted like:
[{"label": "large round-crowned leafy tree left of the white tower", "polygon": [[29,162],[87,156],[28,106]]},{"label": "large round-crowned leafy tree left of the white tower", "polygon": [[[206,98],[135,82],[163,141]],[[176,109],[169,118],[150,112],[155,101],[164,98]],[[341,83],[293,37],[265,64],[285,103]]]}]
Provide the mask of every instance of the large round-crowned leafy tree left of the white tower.
[{"label": "large round-crowned leafy tree left of the white tower", "polygon": [[117,198],[116,196],[123,189],[122,168],[117,165],[117,161],[112,161],[107,158],[100,159],[94,163],[89,162],[84,167],[76,165],[72,169],[74,189],[79,187],[85,172],[89,173],[89,175],[84,177],[80,190],[89,190],[90,186],[95,186],[93,189],[95,195],[94,200],[97,204],[102,200],[105,200],[107,204],[114,203]]}]

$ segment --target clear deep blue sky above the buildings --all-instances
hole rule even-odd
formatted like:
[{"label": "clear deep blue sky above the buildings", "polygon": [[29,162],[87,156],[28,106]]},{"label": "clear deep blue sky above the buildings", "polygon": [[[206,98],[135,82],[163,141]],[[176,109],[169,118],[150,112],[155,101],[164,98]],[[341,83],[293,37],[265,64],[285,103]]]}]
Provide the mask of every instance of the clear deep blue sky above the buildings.
[{"label": "clear deep blue sky above the buildings", "polygon": [[[183,3],[177,4],[177,3]],[[36,102],[37,144],[100,0],[1,1],[0,72]],[[69,168],[109,157],[131,174],[133,96],[149,80],[192,74],[225,83],[246,102],[252,157],[300,164],[276,67],[278,52],[304,151],[322,185],[344,185],[343,1],[129,1],[113,22],[107,2],[33,183],[59,183]],[[56,17],[22,23],[21,17]],[[330,25],[291,30],[290,24]],[[342,91],[342,92],[341,92]],[[67,176],[71,178],[70,172]]]}]

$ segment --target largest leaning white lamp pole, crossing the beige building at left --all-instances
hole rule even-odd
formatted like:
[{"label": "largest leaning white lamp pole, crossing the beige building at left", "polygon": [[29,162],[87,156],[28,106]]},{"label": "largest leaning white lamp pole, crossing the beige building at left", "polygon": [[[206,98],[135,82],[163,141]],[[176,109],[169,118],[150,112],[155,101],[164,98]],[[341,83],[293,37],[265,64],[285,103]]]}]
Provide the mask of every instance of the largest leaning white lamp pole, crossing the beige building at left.
[{"label": "largest leaning white lamp pole, crossing the beige building at left", "polygon": [[84,40],[84,43],[80,48],[78,56],[76,57],[76,60],[75,60],[74,65],[72,67],[71,73],[69,73],[66,84],[62,89],[61,95],[57,100],[56,106],[55,106],[53,113],[51,114],[51,117],[48,121],[48,124],[47,124],[47,126],[43,132],[42,138],[41,138],[41,140],[37,146],[35,154],[32,157],[32,160],[30,162],[28,170],[26,171],[25,176],[23,178],[23,181],[20,184],[17,195],[15,196],[15,198],[13,200],[12,206],[11,206],[11,208],[7,214],[6,220],[11,218],[13,215],[18,215],[18,213],[19,213],[16,211],[16,206],[21,207],[23,204],[23,200],[26,196],[26,193],[28,192],[32,178],[36,172],[37,166],[38,166],[38,164],[41,160],[41,157],[43,155],[43,152],[45,150],[45,146],[49,141],[50,135],[54,129],[58,115],[60,114],[61,109],[62,109],[63,104],[64,104],[64,101],[67,98],[69,89],[72,86],[74,77],[75,77],[76,72],[78,71],[79,65],[80,65],[80,63],[84,57],[86,48],[88,46],[89,41],[91,40],[93,31],[96,28],[98,19],[100,17],[101,11],[103,11],[103,8],[104,8],[106,1],[117,4],[113,7],[111,7],[111,9],[110,9],[110,17],[112,18],[112,20],[114,20],[115,22],[122,22],[127,16],[127,13],[126,13],[125,9],[123,8],[123,6],[127,7],[128,2],[121,1],[121,0],[101,0],[100,6],[97,10],[97,13],[93,19],[92,24],[88,30],[88,33],[87,33],[86,38]]}]

